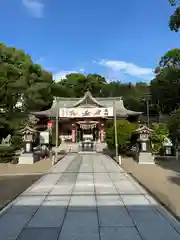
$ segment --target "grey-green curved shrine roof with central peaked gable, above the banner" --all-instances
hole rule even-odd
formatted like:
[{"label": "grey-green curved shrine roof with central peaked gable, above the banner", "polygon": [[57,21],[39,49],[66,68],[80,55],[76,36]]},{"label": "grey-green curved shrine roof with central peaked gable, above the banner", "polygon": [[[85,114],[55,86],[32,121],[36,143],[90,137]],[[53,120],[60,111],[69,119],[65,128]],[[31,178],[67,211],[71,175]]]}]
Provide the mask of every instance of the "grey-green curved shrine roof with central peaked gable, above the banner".
[{"label": "grey-green curved shrine roof with central peaked gable, above the banner", "polygon": [[58,109],[60,108],[107,108],[113,107],[113,102],[115,102],[117,117],[138,116],[142,114],[142,112],[135,112],[126,109],[121,97],[94,98],[89,91],[86,92],[82,98],[56,97],[50,109],[46,111],[34,112],[32,114],[36,116],[56,117]]}]

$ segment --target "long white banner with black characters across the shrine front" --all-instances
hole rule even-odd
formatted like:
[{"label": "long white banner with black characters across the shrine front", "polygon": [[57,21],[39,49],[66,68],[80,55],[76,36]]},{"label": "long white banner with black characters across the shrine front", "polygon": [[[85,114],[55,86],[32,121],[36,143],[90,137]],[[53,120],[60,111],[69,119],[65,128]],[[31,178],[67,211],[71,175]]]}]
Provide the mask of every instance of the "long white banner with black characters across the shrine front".
[{"label": "long white banner with black characters across the shrine front", "polygon": [[59,117],[90,118],[113,117],[113,107],[109,108],[60,108]]}]

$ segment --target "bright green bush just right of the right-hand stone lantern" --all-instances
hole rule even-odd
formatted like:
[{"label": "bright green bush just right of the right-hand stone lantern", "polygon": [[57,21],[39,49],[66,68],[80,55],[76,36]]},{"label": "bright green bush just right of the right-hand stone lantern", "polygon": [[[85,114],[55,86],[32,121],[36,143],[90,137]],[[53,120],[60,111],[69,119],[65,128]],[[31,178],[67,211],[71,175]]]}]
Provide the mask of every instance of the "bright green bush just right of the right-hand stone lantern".
[{"label": "bright green bush just right of the right-hand stone lantern", "polygon": [[168,126],[165,123],[153,124],[152,129],[154,130],[152,134],[152,144],[153,151],[155,153],[160,153],[163,148],[163,142],[169,136]]}]

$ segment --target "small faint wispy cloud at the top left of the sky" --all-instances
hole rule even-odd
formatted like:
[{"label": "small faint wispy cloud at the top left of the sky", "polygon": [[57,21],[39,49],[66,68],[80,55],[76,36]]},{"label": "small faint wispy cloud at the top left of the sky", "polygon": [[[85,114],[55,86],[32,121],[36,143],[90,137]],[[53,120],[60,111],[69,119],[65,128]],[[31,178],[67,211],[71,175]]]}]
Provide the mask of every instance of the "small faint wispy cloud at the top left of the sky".
[{"label": "small faint wispy cloud at the top left of the sky", "polygon": [[40,0],[22,0],[22,4],[35,18],[42,18],[44,14],[44,4]]}]

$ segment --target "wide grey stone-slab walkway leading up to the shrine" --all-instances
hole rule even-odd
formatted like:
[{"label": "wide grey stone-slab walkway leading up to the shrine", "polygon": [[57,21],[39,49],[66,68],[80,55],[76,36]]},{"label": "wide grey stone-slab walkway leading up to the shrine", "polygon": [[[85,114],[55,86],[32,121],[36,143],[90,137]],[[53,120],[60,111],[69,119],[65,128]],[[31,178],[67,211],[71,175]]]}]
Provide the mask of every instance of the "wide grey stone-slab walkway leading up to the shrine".
[{"label": "wide grey stone-slab walkway leading up to the shrine", "polygon": [[0,240],[32,239],[179,240],[180,225],[110,158],[77,154],[1,215]]}]

